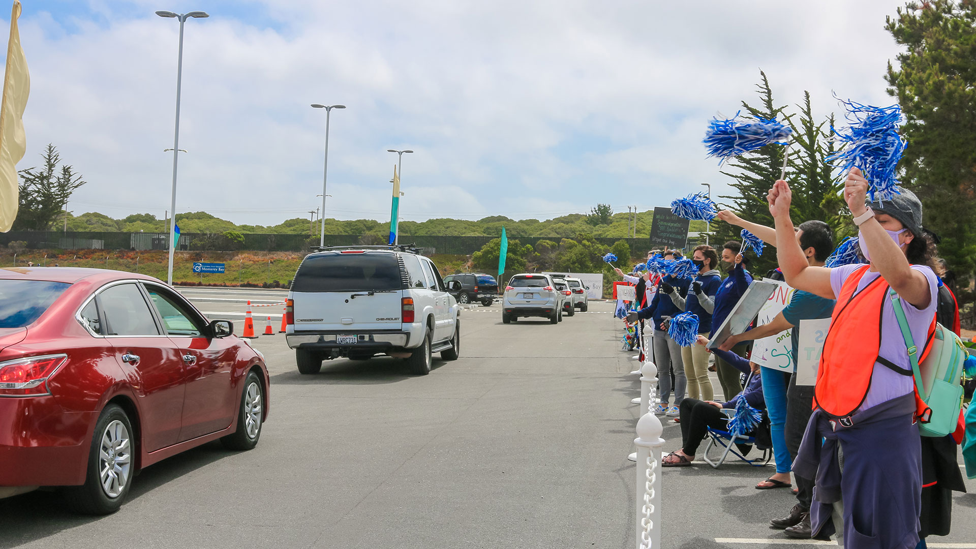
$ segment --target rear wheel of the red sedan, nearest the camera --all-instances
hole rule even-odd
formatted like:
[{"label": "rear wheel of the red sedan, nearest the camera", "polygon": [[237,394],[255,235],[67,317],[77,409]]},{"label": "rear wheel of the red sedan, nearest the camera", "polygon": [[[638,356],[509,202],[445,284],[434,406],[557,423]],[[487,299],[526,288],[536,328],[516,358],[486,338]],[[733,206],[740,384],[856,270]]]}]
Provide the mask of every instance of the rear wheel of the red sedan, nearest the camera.
[{"label": "rear wheel of the red sedan, nearest the camera", "polygon": [[[84,515],[110,515],[119,510],[136,474],[134,435],[125,410],[118,404],[105,406],[95,424],[85,484],[64,489],[65,502],[71,510]],[[110,470],[103,454],[114,465]]]}]

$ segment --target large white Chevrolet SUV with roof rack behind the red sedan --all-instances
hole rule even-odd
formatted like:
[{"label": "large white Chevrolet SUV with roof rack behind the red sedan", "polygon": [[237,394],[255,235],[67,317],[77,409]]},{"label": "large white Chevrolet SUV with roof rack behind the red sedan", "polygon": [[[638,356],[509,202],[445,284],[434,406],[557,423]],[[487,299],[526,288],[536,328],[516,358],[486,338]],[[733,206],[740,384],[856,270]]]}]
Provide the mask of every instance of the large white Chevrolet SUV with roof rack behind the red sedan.
[{"label": "large white Chevrolet SUV with roof rack behind the red sedan", "polygon": [[285,339],[304,374],[324,359],[385,354],[424,375],[433,353],[458,358],[459,315],[437,268],[415,249],[323,248],[305,256],[292,280]]}]

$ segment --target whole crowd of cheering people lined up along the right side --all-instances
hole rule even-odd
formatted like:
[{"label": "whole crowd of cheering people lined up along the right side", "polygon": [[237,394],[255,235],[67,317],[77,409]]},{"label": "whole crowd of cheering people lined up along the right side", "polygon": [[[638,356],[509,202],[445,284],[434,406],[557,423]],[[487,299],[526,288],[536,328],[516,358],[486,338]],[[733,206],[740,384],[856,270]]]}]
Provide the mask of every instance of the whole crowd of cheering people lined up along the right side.
[{"label": "whole crowd of cheering people lined up along the right side", "polygon": [[[767,196],[774,227],[731,211],[718,213],[722,221],[776,248],[779,268],[765,276],[794,291],[769,322],[753,321],[750,329],[711,351],[707,344],[755,275],[740,242],[695,247],[693,278],[617,272],[636,285],[626,321],[644,334],[638,341],[649,343],[640,358],[649,354],[658,368],[659,401],[653,411],[680,423],[681,446],[663,458],[662,466],[692,466],[708,428],[726,429],[733,414],[723,409],[745,401],[761,412],[763,428],[768,425],[776,467],[755,488],[793,489],[796,496],[792,509],[770,518],[773,528],[793,538],[835,535],[854,548],[913,549],[925,547],[929,535],[949,533],[952,491],[965,491],[957,465],[961,434],[919,434],[922,408],[912,369],[914,352],[924,354],[922,342],[927,347],[935,318],[957,333],[958,312],[940,278],[944,264],[933,235],[922,226],[919,200],[902,190],[872,201],[868,190],[860,171],[851,170],[844,198],[859,231],[860,263],[834,268],[825,266],[837,240],[834,230],[819,220],[794,225],[785,181],[777,181]],[[654,250],[648,258],[656,254],[682,257],[678,250]],[[682,347],[668,328],[684,312],[699,318],[699,336]],[[823,318],[832,320],[816,383],[797,383],[800,322]],[[790,329],[793,368],[750,360],[752,341]],[[912,341],[919,342],[917,350]],[[710,369],[722,399],[715,398]],[[760,438],[755,441],[758,445]]]}]

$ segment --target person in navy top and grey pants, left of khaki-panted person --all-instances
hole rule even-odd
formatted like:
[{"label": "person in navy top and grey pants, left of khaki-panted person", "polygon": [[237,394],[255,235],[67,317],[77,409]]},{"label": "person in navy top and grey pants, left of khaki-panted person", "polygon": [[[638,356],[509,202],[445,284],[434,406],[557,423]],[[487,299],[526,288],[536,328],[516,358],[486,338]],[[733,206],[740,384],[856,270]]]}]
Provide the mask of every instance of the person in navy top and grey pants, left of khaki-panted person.
[{"label": "person in navy top and grey pants, left of khaki-panted person", "polygon": [[[666,252],[665,259],[680,259],[678,252]],[[671,291],[684,296],[688,292],[688,280],[675,278],[671,275],[664,276],[658,283],[657,291],[651,299],[651,304],[646,308],[630,313],[630,321],[637,319],[651,318],[654,326],[654,335],[651,341],[654,345],[654,363],[658,367],[658,379],[661,384],[661,402],[654,406],[654,413],[668,414],[677,416],[681,401],[685,397],[687,377],[685,376],[684,365],[681,360],[681,346],[668,335],[668,321],[671,317],[681,313],[670,299],[662,297],[663,287],[671,288]],[[673,379],[673,382],[671,381]],[[674,405],[671,402],[671,390],[674,391]]]}]

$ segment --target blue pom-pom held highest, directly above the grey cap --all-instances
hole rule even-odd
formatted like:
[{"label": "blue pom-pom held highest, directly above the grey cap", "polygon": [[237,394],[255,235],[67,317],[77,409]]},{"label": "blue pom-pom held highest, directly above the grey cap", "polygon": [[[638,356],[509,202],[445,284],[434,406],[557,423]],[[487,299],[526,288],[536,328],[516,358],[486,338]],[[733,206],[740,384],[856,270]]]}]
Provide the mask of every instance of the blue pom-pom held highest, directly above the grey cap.
[{"label": "blue pom-pom held highest, directly above the grey cap", "polygon": [[825,160],[847,177],[851,168],[859,168],[870,185],[871,200],[887,200],[898,190],[898,161],[905,152],[905,140],[898,134],[900,106],[867,106],[841,101],[847,107],[847,130],[832,127],[839,150]]}]

